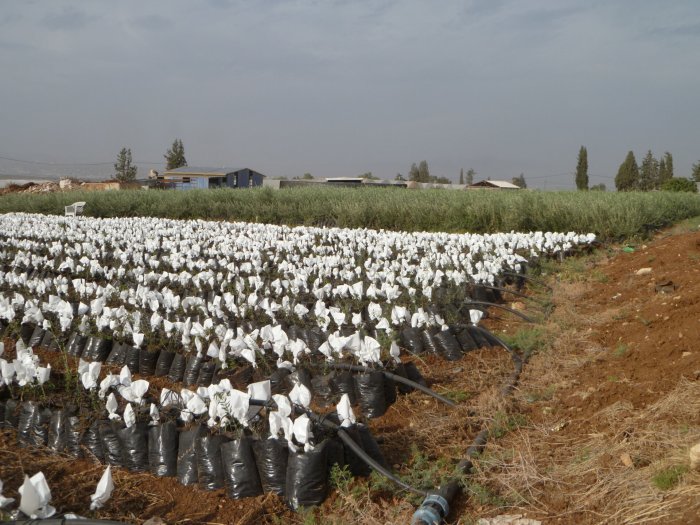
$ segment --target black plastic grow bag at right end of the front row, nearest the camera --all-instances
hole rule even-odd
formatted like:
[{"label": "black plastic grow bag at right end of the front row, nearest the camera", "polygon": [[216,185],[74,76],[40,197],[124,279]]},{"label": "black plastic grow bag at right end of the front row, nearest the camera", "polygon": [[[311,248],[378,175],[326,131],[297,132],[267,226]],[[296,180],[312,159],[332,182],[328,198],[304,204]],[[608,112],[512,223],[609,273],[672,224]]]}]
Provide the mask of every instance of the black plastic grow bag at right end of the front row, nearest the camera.
[{"label": "black plastic grow bag at right end of the front row, nearest the camera", "polygon": [[287,502],[294,509],[320,505],[328,495],[326,442],[308,452],[291,452],[287,462]]}]

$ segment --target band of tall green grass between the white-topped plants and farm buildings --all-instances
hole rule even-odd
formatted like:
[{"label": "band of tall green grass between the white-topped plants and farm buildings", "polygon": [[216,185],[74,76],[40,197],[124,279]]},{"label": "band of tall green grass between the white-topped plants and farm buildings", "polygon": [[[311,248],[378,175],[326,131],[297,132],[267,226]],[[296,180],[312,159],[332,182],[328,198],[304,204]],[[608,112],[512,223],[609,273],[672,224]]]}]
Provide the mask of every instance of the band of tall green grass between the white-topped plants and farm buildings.
[{"label": "band of tall green grass between the white-topped plants and farm buildings", "polygon": [[399,188],[130,190],[10,194],[0,213],[62,214],[86,201],[93,217],[166,217],[405,231],[594,232],[644,235],[700,215],[700,196],[650,192],[450,191]]}]

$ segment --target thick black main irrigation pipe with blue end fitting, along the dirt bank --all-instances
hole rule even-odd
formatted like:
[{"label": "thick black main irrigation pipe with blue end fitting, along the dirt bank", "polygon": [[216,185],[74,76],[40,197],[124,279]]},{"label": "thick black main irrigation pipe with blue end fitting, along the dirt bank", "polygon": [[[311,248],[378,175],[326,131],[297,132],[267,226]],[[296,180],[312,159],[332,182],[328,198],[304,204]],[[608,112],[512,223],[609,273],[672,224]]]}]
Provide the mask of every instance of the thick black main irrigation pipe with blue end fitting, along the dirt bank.
[{"label": "thick black main irrigation pipe with blue end fitting, along the dirt bank", "polygon": [[[493,338],[493,340],[511,355],[514,367],[513,372],[503,383],[500,391],[503,397],[507,397],[515,388],[525,361],[498,336],[479,326],[475,326],[475,328],[483,335]],[[474,466],[472,459],[480,454],[486,447],[489,433],[490,430],[488,428],[485,427],[481,429],[471,445],[469,445],[469,448],[467,448],[466,457],[457,464],[454,477],[438,490],[429,491],[428,496],[413,514],[411,525],[440,525],[440,523],[442,523],[442,520],[446,518],[450,512],[450,503],[460,491],[460,477],[471,473]]]}]

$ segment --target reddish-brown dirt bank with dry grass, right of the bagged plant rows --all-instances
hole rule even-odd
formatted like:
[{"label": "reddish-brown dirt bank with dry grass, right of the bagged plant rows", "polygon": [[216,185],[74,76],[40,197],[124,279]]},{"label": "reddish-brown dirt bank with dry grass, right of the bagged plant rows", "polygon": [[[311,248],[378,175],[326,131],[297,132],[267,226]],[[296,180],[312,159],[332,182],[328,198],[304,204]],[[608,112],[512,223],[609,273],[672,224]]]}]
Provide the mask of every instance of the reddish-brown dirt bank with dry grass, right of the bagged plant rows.
[{"label": "reddish-brown dirt bank with dry grass, right of the bagged plant rows", "polygon": [[687,472],[700,442],[700,232],[575,266],[515,398],[529,422],[488,447],[477,477],[491,501],[473,497],[463,521],[700,523],[700,473]]}]

